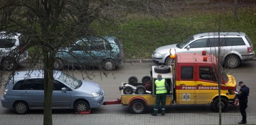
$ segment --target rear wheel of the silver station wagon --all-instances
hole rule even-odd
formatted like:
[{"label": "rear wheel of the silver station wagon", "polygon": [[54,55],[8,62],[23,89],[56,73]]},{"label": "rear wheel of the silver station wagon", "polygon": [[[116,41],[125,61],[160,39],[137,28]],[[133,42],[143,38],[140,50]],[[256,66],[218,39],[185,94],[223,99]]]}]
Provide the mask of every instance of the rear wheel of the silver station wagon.
[{"label": "rear wheel of the silver station wagon", "polygon": [[230,69],[235,69],[240,65],[240,58],[234,54],[227,56],[225,59],[225,66],[229,67]]}]

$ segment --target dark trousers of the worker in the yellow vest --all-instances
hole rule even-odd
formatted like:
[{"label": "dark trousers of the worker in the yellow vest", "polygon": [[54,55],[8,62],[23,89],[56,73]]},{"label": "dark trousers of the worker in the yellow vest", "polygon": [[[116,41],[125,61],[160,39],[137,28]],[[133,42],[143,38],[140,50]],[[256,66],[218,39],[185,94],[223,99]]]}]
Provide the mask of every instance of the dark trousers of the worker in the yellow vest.
[{"label": "dark trousers of the worker in the yellow vest", "polygon": [[165,112],[166,93],[156,94],[156,103],[154,104],[154,114],[158,113],[158,108],[161,101],[162,114]]}]

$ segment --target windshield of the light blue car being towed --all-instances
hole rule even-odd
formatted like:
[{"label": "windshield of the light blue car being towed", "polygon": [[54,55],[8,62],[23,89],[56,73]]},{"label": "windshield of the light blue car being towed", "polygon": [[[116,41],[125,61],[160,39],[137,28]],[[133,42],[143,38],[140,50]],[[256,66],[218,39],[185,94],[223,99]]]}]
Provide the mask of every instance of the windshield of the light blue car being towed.
[{"label": "windshield of the light blue car being towed", "polygon": [[60,74],[59,80],[69,85],[73,89],[79,88],[82,85],[81,80],[75,79],[75,77],[65,74],[64,72]]}]

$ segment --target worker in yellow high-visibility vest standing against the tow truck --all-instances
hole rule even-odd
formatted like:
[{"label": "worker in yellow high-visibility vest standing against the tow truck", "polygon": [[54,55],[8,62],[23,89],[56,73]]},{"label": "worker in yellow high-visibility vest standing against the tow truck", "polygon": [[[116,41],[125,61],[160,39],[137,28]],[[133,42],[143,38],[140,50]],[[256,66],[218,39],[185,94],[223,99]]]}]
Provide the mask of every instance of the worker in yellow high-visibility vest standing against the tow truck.
[{"label": "worker in yellow high-visibility vest standing against the tow truck", "polygon": [[158,74],[158,79],[154,81],[154,84],[156,85],[156,103],[154,105],[154,111],[152,116],[157,116],[158,108],[161,101],[161,114],[164,116],[165,113],[165,103],[166,103],[166,80],[162,78],[161,74]]}]

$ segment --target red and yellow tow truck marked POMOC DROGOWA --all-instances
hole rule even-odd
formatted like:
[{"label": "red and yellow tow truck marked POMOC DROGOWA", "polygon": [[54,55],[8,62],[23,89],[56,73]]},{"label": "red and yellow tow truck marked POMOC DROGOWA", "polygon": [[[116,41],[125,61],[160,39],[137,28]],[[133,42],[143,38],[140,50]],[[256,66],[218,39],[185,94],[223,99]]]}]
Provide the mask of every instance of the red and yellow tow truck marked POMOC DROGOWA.
[{"label": "red and yellow tow truck marked POMOC DROGOWA", "polygon": [[[178,53],[175,54],[171,66],[152,66],[149,87],[141,83],[121,84],[121,103],[130,106],[133,113],[143,113],[146,106],[155,103],[154,81],[161,74],[169,84],[170,92],[166,96],[166,105],[197,105],[212,104],[214,111],[226,111],[229,103],[235,102],[236,82],[232,75],[225,74],[222,66],[218,64],[216,56],[206,53]],[[138,93],[137,88],[145,84],[145,91]],[[126,87],[132,88],[131,93]],[[221,102],[219,102],[219,87]]]}]

